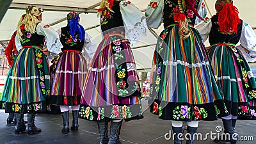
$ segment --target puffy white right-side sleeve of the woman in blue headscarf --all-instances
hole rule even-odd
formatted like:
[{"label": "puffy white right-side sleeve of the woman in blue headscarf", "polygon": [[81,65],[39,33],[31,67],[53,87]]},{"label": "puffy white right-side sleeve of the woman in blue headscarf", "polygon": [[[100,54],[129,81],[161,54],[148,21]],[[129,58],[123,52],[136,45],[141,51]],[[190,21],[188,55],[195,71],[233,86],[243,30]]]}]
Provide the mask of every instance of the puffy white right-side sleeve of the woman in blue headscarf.
[{"label": "puffy white right-side sleeve of the woman in blue headscarf", "polygon": [[92,37],[85,32],[84,35],[84,46],[83,46],[83,56],[90,63],[97,49],[97,45],[92,41]]}]

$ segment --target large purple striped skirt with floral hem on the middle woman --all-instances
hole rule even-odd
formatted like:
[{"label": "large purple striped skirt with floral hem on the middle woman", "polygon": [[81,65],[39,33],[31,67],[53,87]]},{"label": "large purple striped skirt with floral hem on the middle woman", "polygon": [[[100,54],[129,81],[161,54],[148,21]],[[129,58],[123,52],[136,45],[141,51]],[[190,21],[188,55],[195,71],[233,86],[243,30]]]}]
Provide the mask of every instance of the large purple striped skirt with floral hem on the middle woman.
[{"label": "large purple striped skirt with floral hem on the middle woman", "polygon": [[79,117],[109,122],[143,118],[132,51],[124,35],[105,35],[88,68]]}]

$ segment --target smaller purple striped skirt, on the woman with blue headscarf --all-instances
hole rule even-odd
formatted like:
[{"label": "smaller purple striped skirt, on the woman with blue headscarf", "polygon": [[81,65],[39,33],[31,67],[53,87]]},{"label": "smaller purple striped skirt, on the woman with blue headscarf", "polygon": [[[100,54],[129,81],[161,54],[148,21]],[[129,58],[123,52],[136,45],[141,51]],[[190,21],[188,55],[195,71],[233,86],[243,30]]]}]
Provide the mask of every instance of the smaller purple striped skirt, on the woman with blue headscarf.
[{"label": "smaller purple striped skirt, on the woman with blue headscarf", "polygon": [[80,104],[87,72],[86,60],[79,51],[64,51],[54,70],[49,104],[77,106]]}]

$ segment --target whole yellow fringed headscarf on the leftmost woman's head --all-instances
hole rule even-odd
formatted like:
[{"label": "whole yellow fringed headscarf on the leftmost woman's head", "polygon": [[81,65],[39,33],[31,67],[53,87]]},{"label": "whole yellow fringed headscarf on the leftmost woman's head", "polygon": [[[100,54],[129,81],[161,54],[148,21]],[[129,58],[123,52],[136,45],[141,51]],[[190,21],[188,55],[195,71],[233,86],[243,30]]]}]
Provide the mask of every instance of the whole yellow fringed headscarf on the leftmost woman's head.
[{"label": "whole yellow fringed headscarf on the leftmost woman's head", "polygon": [[17,36],[19,40],[22,38],[22,30],[29,31],[29,33],[35,33],[36,24],[41,22],[40,20],[36,19],[36,16],[42,15],[42,8],[38,8],[36,6],[28,5],[26,7],[26,15],[24,15],[23,19],[18,22],[17,26]]}]

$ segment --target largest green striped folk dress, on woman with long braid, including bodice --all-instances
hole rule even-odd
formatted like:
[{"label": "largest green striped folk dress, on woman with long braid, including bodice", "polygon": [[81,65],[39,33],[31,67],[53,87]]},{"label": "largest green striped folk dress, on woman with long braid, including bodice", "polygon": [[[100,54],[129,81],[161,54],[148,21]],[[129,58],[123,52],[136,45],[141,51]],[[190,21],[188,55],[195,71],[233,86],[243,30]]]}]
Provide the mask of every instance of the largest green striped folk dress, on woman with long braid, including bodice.
[{"label": "largest green striped folk dress, on woman with long braid, including bodice", "polygon": [[[153,58],[150,112],[163,120],[217,120],[218,116],[227,115],[227,109],[204,42],[193,28],[196,15],[183,2],[190,31],[184,40],[179,36],[177,0],[152,1],[147,8],[149,27],[158,28],[162,13],[164,23]],[[196,6],[199,3],[202,1],[196,1]]]}]

